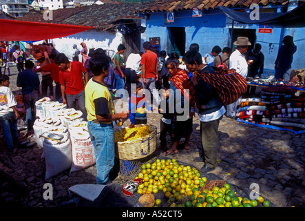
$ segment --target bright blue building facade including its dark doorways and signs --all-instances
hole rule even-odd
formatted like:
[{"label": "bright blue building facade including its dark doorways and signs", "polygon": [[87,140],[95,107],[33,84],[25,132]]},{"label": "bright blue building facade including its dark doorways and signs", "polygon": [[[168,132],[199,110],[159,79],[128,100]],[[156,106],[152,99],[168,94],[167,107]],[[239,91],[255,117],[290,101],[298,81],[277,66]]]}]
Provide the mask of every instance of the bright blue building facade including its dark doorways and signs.
[{"label": "bright blue building facade including its dark doorways and signs", "polygon": [[[248,12],[250,8],[235,8],[235,10]],[[282,5],[260,6],[260,13],[285,12],[286,7]],[[168,13],[173,15],[172,20],[168,20]],[[194,14],[196,16],[194,16]],[[274,69],[277,52],[282,45],[284,35],[287,35],[287,28],[273,28],[260,26],[259,24],[245,24],[234,22],[226,17],[220,10],[215,8],[208,10],[155,10],[147,8],[145,13],[140,16],[146,16],[146,39],[160,39],[159,50],[165,50],[167,53],[178,52],[181,56],[189,50],[189,46],[197,43],[200,46],[202,56],[211,52],[213,46],[220,48],[232,46],[237,37],[248,37],[252,43],[262,45],[264,53],[264,68]],[[293,35],[297,52],[293,55],[293,69],[304,68],[304,35],[305,28],[290,28],[289,35]],[[234,47],[234,46],[233,46]]]}]

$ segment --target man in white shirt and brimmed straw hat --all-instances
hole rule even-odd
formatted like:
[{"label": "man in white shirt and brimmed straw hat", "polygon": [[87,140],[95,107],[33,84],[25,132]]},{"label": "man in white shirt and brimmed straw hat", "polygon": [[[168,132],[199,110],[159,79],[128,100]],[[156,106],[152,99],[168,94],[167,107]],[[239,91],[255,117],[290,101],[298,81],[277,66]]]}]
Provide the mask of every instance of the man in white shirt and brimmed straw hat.
[{"label": "man in white shirt and brimmed straw hat", "polygon": [[[246,78],[246,75],[248,75],[249,62],[246,61],[245,55],[248,51],[248,47],[251,46],[251,42],[247,37],[238,37],[237,41],[234,42],[234,45],[236,46],[236,49],[230,56],[229,69],[234,69],[237,73],[242,75],[242,77]],[[232,104],[227,105],[227,117],[232,117],[235,119],[237,106],[239,103],[240,99]]]}]

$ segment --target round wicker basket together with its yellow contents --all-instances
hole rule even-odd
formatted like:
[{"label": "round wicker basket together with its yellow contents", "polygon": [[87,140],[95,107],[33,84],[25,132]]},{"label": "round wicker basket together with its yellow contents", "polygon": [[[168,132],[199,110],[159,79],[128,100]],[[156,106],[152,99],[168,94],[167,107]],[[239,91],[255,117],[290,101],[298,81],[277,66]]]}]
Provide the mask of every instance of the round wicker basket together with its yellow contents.
[{"label": "round wicker basket together with its yellow contents", "polygon": [[120,128],[114,133],[116,157],[137,160],[156,151],[156,126],[138,124],[134,128]]}]

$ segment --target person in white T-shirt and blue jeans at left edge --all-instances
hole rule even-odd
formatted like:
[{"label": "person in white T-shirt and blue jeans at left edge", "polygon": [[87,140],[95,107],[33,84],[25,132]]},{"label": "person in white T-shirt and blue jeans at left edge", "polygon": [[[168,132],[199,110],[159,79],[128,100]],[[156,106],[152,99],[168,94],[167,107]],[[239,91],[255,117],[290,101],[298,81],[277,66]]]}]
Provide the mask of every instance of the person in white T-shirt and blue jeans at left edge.
[{"label": "person in white T-shirt and blue jeans at left edge", "polygon": [[17,119],[20,115],[16,109],[16,99],[12,94],[8,75],[0,76],[0,126],[3,131],[6,148],[12,152],[14,144],[18,144]]}]

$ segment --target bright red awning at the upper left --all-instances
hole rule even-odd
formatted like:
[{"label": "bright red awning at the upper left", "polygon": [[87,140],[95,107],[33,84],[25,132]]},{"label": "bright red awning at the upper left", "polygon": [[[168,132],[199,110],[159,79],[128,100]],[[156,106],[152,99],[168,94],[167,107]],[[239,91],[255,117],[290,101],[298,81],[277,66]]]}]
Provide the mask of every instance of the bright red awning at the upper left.
[{"label": "bright red awning at the upper left", "polygon": [[92,28],[94,27],[0,19],[0,41],[56,39]]}]

